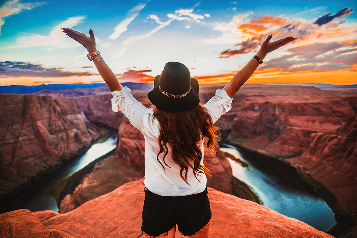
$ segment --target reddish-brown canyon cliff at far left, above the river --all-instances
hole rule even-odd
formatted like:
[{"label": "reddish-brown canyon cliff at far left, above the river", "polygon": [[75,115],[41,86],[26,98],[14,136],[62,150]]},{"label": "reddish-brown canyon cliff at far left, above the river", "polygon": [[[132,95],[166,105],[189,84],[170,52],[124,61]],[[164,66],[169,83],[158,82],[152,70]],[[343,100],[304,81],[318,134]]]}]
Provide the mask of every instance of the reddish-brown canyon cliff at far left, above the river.
[{"label": "reddish-brown canyon cliff at far left, above the river", "polygon": [[0,95],[1,197],[99,138],[72,98]]}]

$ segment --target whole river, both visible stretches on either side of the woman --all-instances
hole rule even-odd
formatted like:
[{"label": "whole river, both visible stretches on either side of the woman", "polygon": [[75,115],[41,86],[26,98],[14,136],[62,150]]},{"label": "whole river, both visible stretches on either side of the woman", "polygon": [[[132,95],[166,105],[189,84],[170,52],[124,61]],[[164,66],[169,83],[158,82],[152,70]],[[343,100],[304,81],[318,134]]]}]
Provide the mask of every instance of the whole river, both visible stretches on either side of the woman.
[{"label": "whole river, both visible stretches on either side of the woman", "polygon": [[[79,159],[67,162],[60,169],[27,188],[16,199],[11,210],[58,212],[56,200],[50,191],[61,180],[115,149],[115,146],[116,135],[103,143],[93,144]],[[233,176],[245,182],[259,197],[262,205],[285,216],[299,219],[320,231],[326,232],[336,224],[334,213],[326,202],[313,193],[313,188],[291,166],[230,145],[221,146],[221,151],[233,155],[248,165],[243,167],[228,158]]]}]

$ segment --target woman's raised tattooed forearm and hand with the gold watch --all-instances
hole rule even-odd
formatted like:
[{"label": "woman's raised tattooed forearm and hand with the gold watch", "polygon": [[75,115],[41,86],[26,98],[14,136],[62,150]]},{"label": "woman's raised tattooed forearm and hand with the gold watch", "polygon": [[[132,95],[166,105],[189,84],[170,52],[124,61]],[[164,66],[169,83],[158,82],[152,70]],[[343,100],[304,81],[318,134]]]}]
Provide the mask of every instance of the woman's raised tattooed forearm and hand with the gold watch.
[{"label": "woman's raised tattooed forearm and hand with the gold watch", "polygon": [[[64,33],[66,33],[67,36],[81,43],[81,45],[87,49],[89,54],[97,51],[95,47],[94,33],[91,29],[89,29],[89,37],[81,32],[74,31],[69,28],[62,28],[62,30]],[[115,90],[120,91],[123,88],[113,71],[111,71],[111,69],[107,66],[107,64],[104,62],[103,58],[100,55],[94,56],[93,62],[95,64],[95,67],[98,69],[100,76],[102,76],[111,92]]]}]

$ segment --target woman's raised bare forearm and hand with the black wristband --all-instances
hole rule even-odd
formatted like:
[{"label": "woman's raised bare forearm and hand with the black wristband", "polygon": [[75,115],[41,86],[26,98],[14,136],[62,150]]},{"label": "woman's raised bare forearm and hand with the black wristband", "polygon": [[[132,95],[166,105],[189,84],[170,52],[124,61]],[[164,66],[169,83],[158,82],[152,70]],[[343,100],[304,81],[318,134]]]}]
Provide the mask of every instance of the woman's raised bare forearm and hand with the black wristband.
[{"label": "woman's raised bare forearm and hand with the black wristband", "polygon": [[[272,37],[273,37],[273,35],[270,35],[265,39],[265,41],[262,43],[262,45],[260,47],[260,50],[256,54],[256,56],[258,56],[262,60],[265,58],[267,53],[272,52],[272,51],[278,49],[279,47],[296,40],[296,38],[289,36],[289,37],[286,37],[286,38],[283,38],[283,39],[280,39],[280,40],[277,40],[274,42],[269,42]],[[252,58],[246,64],[246,66],[244,66],[232,78],[232,80],[228,83],[228,85],[223,88],[226,90],[228,96],[233,98],[233,96],[236,94],[238,89],[240,89],[243,86],[243,84],[250,78],[250,76],[252,76],[252,74],[254,73],[254,71],[257,69],[258,66],[259,66],[258,60],[256,60],[255,58]]]}]

